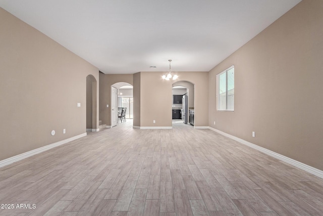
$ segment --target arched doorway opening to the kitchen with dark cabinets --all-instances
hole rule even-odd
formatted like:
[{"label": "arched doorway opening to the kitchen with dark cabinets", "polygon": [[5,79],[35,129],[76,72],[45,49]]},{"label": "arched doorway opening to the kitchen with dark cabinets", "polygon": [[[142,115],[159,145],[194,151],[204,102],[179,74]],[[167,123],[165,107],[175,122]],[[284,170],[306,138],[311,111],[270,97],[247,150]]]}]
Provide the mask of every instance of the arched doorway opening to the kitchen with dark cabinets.
[{"label": "arched doorway opening to the kitchen with dark cabinets", "polygon": [[172,94],[172,122],[182,121],[187,125],[194,125],[194,83],[184,80],[174,82]]}]

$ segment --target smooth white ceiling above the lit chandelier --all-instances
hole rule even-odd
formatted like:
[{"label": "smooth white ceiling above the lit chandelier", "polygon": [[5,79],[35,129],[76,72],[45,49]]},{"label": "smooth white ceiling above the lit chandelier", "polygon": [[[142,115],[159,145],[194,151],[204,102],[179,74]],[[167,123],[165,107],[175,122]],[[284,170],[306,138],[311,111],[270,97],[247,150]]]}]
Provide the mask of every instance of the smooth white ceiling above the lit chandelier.
[{"label": "smooth white ceiling above the lit chandelier", "polygon": [[[300,0],[0,0],[103,73],[209,71]],[[150,68],[156,66],[156,68]]]}]

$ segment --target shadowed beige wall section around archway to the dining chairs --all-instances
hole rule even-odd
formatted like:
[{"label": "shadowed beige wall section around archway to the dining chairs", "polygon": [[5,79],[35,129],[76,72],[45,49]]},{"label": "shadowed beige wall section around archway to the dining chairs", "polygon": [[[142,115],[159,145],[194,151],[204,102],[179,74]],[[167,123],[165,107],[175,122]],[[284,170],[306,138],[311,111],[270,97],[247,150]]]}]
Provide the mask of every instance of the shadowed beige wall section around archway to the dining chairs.
[{"label": "shadowed beige wall section around archway to the dining chairs", "polygon": [[[99,120],[102,120],[102,124],[111,125],[111,85],[117,82],[133,85],[133,74],[100,73],[99,76]],[[109,108],[106,107],[107,104]]]}]

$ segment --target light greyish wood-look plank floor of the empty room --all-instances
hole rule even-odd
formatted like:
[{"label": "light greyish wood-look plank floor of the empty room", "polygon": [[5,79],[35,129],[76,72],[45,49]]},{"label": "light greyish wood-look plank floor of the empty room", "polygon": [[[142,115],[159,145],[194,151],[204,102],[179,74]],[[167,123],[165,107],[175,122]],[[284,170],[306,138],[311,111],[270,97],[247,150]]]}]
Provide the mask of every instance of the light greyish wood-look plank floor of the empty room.
[{"label": "light greyish wood-look plank floor of the empty room", "polygon": [[0,215],[323,215],[323,180],[208,129],[128,119],[0,168],[0,204],[14,204]]}]

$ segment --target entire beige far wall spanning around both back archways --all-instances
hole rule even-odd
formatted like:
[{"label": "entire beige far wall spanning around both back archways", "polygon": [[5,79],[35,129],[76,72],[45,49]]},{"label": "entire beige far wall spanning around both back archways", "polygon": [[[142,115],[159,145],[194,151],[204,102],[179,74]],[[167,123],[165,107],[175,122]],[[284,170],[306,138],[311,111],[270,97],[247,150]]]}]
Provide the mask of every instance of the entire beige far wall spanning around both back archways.
[{"label": "entire beige far wall spanning around both back archways", "polygon": [[[165,72],[138,72],[135,74],[103,74],[99,79],[99,119],[111,124],[111,85],[128,82],[133,85],[134,126],[172,126],[172,84],[161,78]],[[178,72],[177,81],[195,84],[195,126],[208,125],[208,72]],[[155,120],[155,123],[153,123]]]}]

